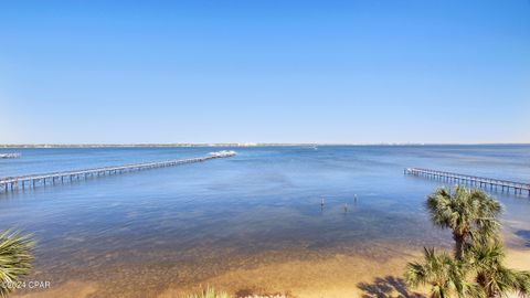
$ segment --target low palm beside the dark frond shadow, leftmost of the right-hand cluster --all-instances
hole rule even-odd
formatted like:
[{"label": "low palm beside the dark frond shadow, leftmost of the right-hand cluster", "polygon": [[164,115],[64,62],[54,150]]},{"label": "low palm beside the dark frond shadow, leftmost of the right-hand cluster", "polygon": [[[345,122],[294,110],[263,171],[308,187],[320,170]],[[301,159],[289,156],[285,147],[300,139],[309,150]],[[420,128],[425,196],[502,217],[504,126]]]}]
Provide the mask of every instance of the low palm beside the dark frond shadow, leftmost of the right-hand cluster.
[{"label": "low palm beside the dark frond shadow, leftmost of the right-hand cluster", "polygon": [[453,259],[446,253],[435,253],[424,247],[424,263],[409,263],[406,284],[412,287],[431,286],[432,298],[483,297],[478,285],[468,283],[465,264]]}]

